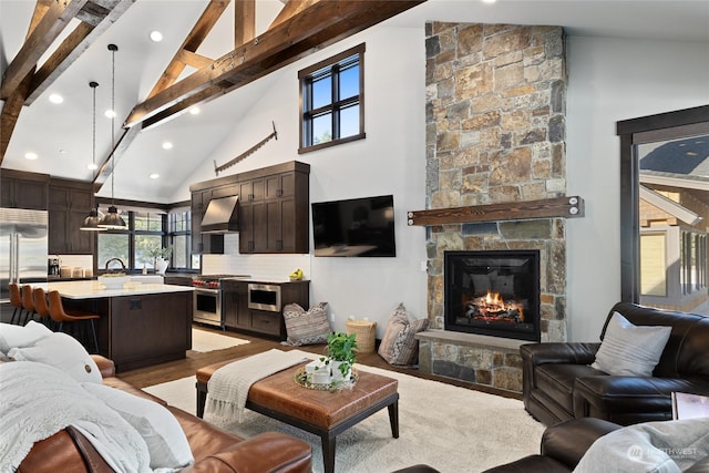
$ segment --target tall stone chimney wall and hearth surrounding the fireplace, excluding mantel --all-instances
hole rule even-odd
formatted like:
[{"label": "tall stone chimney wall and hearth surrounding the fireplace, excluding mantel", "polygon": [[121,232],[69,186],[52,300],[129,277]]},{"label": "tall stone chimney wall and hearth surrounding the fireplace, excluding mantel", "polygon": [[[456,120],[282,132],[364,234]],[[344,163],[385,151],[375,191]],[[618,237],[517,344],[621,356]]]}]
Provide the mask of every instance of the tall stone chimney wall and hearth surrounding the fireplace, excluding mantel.
[{"label": "tall stone chimney wall and hearth surrounding the fireplace, excluding mantel", "polygon": [[[565,195],[564,53],[561,27],[427,23],[428,208]],[[541,250],[542,341],[564,341],[565,220],[428,227],[421,369],[522,391],[520,343],[442,330],[443,253],[479,249]]]}]

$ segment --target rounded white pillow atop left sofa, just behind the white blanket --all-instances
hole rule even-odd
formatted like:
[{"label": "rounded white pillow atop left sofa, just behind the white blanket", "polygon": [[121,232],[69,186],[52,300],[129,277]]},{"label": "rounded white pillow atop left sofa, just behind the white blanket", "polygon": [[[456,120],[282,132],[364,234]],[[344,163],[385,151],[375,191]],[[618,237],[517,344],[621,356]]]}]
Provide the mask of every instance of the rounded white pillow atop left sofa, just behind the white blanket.
[{"label": "rounded white pillow atop left sofa, just behind the white blanket", "polygon": [[103,383],[101,371],[91,354],[75,338],[54,332],[33,347],[13,348],[8,357],[18,361],[37,361],[50,364],[71,376],[79,382]]}]

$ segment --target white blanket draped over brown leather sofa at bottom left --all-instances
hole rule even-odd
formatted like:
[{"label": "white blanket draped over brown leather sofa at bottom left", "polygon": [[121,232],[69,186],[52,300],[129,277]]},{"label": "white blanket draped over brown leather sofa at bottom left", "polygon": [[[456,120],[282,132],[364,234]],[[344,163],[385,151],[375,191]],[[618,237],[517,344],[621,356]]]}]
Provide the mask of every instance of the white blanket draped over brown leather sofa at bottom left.
[{"label": "white blanket draped over brown leather sofa at bottom left", "polygon": [[140,433],[64,372],[33,361],[0,363],[0,472],[13,472],[32,444],[68,425],[117,472],[148,472]]}]

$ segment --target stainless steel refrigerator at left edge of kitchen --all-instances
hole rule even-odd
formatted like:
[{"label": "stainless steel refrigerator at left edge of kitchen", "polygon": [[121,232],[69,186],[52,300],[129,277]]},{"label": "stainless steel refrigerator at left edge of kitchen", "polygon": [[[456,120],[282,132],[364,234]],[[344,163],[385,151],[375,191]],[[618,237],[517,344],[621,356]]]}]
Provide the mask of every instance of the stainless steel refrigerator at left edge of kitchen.
[{"label": "stainless steel refrigerator at left edge of kitchen", "polygon": [[0,207],[0,302],[10,300],[10,282],[47,282],[45,210]]}]

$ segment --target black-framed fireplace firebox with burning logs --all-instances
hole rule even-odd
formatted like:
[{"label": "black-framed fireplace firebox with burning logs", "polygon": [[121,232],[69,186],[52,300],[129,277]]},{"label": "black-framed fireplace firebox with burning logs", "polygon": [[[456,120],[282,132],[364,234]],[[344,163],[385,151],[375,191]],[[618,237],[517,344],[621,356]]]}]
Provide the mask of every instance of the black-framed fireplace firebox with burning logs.
[{"label": "black-framed fireplace firebox with burning logs", "polygon": [[444,329],[540,341],[540,251],[444,253]]}]

